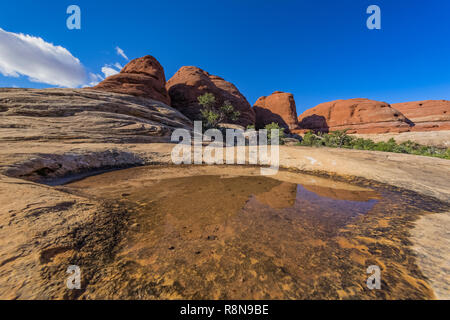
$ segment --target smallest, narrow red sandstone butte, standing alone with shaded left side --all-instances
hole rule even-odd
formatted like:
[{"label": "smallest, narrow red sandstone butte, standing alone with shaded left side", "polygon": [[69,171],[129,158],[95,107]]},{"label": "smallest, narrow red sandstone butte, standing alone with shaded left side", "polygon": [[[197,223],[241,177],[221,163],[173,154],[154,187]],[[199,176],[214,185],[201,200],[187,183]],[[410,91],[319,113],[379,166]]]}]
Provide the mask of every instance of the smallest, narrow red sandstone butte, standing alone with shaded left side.
[{"label": "smallest, narrow red sandstone butte, standing alone with shaded left side", "polygon": [[297,129],[297,107],[294,95],[276,91],[268,97],[259,98],[253,106],[256,115],[256,128],[264,128],[272,122],[285,129]]}]

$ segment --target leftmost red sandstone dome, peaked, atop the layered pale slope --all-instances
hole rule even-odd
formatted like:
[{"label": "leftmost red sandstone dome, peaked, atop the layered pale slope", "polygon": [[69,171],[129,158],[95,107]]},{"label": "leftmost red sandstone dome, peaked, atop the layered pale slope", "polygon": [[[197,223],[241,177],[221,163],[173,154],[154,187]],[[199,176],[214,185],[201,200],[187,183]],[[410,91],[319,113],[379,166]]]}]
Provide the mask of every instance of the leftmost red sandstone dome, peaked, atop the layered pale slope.
[{"label": "leftmost red sandstone dome, peaked, atop the layered pale slope", "polygon": [[150,98],[170,106],[164,69],[152,56],[131,61],[119,74],[106,78],[92,89]]}]

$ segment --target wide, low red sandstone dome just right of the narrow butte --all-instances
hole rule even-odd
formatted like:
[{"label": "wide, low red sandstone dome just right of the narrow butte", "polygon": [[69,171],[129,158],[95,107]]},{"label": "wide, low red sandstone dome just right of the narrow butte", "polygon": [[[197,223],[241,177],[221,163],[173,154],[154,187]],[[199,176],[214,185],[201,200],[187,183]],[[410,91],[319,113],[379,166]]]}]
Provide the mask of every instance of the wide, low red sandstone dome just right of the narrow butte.
[{"label": "wide, low red sandstone dome just right of the narrow butte", "polygon": [[305,111],[298,120],[300,129],[321,132],[398,133],[409,131],[413,125],[389,104],[369,99],[325,102]]}]

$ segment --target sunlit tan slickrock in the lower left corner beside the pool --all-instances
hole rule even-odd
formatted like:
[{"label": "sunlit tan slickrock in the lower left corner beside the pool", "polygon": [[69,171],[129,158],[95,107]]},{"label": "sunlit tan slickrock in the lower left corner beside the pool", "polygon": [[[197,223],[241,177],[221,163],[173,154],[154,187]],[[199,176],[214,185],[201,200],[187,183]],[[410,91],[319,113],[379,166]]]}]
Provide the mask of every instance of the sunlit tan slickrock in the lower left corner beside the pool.
[{"label": "sunlit tan slickrock in the lower left corner beside the pool", "polygon": [[68,233],[92,222],[100,205],[3,175],[0,203],[1,299],[51,299],[67,277],[46,279],[46,268],[76,250]]}]

